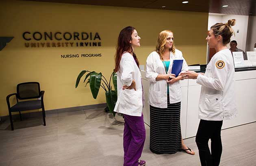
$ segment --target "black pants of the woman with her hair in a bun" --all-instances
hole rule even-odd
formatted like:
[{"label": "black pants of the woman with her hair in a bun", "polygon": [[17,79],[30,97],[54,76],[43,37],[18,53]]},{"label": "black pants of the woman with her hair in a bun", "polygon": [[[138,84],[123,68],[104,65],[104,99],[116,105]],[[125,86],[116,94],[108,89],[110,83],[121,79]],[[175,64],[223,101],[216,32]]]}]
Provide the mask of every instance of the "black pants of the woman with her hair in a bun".
[{"label": "black pants of the woman with her hair in a bun", "polygon": [[[223,121],[200,120],[195,142],[202,166],[219,166],[222,144],[221,126]],[[211,153],[208,141],[211,140]]]}]

